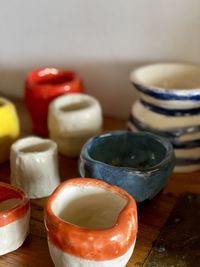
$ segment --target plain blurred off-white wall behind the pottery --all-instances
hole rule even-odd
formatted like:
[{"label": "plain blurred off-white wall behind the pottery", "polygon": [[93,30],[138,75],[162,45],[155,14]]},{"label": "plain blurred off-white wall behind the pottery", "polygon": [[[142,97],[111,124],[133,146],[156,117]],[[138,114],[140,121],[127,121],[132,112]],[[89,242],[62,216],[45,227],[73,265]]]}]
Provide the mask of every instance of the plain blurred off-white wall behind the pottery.
[{"label": "plain blurred off-white wall behind the pottery", "polygon": [[126,118],[132,69],[200,63],[199,0],[0,0],[0,94],[23,97],[29,70],[77,71],[104,113]]}]

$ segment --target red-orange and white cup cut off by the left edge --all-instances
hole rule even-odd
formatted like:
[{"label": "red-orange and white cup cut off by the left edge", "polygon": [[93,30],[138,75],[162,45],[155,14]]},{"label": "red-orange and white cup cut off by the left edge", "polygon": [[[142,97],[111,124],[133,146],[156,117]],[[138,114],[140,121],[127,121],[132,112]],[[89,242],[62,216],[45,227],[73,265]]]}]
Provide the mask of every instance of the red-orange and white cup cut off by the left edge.
[{"label": "red-orange and white cup cut off by the left edge", "polygon": [[0,256],[23,244],[29,219],[30,203],[24,192],[0,182]]}]

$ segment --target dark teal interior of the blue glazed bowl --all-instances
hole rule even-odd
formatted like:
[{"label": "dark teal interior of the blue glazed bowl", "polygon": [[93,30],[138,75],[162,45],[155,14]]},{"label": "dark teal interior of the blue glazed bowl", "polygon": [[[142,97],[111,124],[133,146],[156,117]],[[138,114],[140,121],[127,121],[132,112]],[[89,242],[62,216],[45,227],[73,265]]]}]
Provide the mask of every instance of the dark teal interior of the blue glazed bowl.
[{"label": "dark teal interior of the blue glazed bowl", "polygon": [[166,147],[152,135],[130,132],[102,135],[88,148],[93,160],[144,170],[159,164],[166,153]]}]

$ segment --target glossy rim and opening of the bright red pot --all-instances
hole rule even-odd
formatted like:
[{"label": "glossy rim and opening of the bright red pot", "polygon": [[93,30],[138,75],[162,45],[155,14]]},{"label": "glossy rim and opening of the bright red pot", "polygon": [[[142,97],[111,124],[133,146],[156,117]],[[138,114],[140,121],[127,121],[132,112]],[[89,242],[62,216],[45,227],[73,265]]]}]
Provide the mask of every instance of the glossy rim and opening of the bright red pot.
[{"label": "glossy rim and opening of the bright red pot", "polygon": [[[56,82],[56,79],[60,79],[60,81]],[[46,91],[51,91],[51,86],[55,88],[62,87],[66,85],[66,91],[71,91],[71,88],[68,86],[73,86],[76,83],[81,84],[81,80],[76,72],[71,70],[60,70],[57,68],[38,68],[32,70],[26,79],[26,83],[30,86],[31,90],[38,90],[45,87]],[[74,88],[76,91],[76,88]],[[83,87],[78,88],[77,92],[82,92]]]}]

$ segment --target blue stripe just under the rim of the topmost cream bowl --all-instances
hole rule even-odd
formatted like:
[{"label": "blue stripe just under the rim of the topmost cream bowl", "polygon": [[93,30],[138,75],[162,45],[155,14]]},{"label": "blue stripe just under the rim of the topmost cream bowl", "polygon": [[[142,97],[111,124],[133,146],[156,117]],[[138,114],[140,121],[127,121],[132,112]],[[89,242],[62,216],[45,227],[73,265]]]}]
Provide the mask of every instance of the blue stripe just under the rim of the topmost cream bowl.
[{"label": "blue stripe just under the rim of the topmost cream bowl", "polygon": [[151,97],[160,99],[160,100],[192,100],[192,101],[200,101],[200,90],[185,90],[185,92],[180,91],[177,93],[175,89],[163,90],[159,91],[159,89],[152,87],[145,87],[141,84],[133,82],[133,85],[139,92],[142,92]]}]

